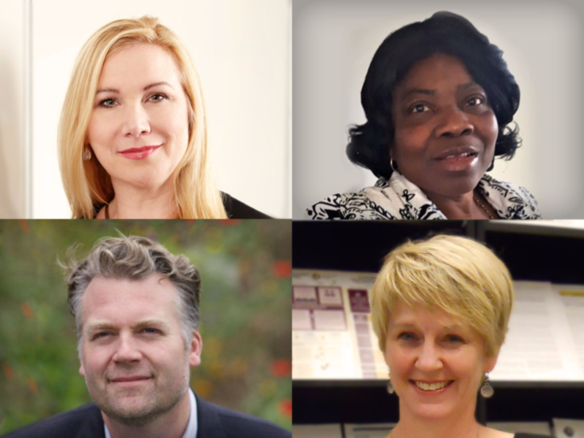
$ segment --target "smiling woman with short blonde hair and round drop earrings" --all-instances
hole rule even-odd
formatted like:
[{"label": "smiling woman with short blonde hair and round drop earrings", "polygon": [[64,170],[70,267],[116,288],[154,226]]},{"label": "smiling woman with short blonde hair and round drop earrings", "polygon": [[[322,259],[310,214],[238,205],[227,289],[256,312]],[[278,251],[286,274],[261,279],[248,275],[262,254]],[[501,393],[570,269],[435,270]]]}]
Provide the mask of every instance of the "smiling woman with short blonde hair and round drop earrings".
[{"label": "smiling woman with short blonde hair and round drop earrings", "polygon": [[388,437],[538,437],[475,419],[477,393],[493,394],[488,373],[512,303],[506,266],[471,239],[407,242],[385,258],[371,290],[371,315],[390,369],[388,391],[399,397],[399,421]]}]

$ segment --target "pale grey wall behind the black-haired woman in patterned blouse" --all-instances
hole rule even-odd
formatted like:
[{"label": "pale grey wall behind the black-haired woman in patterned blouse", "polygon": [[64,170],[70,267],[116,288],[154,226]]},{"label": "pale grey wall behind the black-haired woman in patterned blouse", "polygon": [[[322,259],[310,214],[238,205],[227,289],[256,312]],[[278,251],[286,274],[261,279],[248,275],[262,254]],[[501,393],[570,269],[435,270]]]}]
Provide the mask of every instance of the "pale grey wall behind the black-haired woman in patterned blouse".
[{"label": "pale grey wall behind the black-haired woman in patterned blouse", "polygon": [[534,194],[544,218],[584,217],[584,6],[576,0],[294,0],[293,217],[325,196],[373,185],[345,155],[366,121],[361,86],[381,41],[434,12],[463,15],[504,52],[521,90],[523,147],[491,175]]}]

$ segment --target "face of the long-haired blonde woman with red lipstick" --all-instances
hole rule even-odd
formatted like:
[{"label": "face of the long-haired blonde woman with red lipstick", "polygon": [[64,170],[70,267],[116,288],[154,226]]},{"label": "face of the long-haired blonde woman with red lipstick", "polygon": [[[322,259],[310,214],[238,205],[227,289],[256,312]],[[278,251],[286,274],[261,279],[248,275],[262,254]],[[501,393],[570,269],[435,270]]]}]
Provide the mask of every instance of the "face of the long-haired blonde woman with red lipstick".
[{"label": "face of the long-haired blonde woman with red lipstick", "polygon": [[172,55],[135,43],[106,58],[87,140],[114,187],[158,188],[185,155],[187,99]]}]

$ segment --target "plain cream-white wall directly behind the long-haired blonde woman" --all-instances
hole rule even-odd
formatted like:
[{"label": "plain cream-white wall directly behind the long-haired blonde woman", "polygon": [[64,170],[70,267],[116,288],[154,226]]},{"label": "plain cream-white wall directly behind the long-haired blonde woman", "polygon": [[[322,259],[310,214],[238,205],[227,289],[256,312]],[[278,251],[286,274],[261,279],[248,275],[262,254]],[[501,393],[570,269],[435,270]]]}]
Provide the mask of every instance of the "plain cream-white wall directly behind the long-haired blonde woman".
[{"label": "plain cream-white wall directly behind the long-haired blonde woman", "polygon": [[71,217],[56,139],[79,49],[106,23],[145,14],[178,35],[199,71],[219,188],[291,217],[290,0],[32,0],[32,216]]}]

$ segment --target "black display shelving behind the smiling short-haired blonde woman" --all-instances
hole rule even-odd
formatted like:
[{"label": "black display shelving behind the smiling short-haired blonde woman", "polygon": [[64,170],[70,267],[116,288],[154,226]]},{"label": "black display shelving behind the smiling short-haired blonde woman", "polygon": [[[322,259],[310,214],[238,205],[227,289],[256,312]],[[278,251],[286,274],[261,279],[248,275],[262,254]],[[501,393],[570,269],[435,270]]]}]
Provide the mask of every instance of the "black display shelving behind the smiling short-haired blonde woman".
[{"label": "black display shelving behind the smiling short-haired blonde woman", "polygon": [[[509,221],[293,222],[293,267],[377,272],[391,249],[434,234],[475,238],[489,246],[515,280],[584,284],[584,230]],[[584,382],[493,382],[479,397],[477,419],[551,421],[584,419]],[[395,422],[398,399],[382,381],[293,381],[293,422]]]}]

